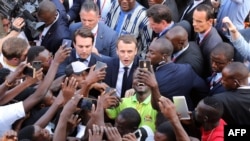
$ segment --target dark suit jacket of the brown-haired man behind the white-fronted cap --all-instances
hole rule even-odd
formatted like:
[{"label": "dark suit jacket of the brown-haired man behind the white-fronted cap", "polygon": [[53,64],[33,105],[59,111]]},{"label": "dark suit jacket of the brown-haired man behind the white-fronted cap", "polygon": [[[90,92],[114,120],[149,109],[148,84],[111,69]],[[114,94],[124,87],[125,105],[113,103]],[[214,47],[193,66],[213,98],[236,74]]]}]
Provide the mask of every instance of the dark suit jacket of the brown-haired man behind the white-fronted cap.
[{"label": "dark suit jacket of the brown-haired man behind the white-fronted cap", "polygon": [[[78,61],[78,58],[76,58],[76,50],[72,49],[70,56],[66,58],[63,63],[60,64],[58,71],[56,73],[56,78],[64,75],[66,66],[75,61]],[[95,55],[94,53],[91,53],[88,67],[95,65],[97,61],[103,61],[103,60],[99,56]]]}]

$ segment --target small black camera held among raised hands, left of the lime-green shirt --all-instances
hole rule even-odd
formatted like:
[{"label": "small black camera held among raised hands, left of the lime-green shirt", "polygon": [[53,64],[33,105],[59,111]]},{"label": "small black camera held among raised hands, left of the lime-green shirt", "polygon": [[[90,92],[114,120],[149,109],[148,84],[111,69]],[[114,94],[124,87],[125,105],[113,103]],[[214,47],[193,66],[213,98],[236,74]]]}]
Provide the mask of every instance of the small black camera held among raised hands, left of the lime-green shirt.
[{"label": "small black camera held among raised hands, left of the lime-green shirt", "polygon": [[77,104],[77,107],[84,110],[91,110],[92,104],[97,105],[97,100],[93,98],[81,98]]}]

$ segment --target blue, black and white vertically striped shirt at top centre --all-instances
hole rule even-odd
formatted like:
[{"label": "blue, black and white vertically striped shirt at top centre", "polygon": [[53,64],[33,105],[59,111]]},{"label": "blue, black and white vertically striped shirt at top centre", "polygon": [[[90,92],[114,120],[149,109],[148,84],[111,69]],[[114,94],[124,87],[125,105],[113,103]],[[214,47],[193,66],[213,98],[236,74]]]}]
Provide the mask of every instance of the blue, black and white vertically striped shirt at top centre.
[{"label": "blue, black and white vertically striped shirt at top centre", "polygon": [[[124,19],[121,25],[118,25],[119,16],[122,14]],[[149,27],[146,9],[136,2],[135,8],[131,12],[123,12],[118,1],[114,1],[111,10],[107,14],[106,24],[118,31],[119,36],[123,34],[133,34],[137,38],[138,53],[144,57],[148,46],[151,43],[152,29]],[[120,29],[116,29],[116,28]]]}]

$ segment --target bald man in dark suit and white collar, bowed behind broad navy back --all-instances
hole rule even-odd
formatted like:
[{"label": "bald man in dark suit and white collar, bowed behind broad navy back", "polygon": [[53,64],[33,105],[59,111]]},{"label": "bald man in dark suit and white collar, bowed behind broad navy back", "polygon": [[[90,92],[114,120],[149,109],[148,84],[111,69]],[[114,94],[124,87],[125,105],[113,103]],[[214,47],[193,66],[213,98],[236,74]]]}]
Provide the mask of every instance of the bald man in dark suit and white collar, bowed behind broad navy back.
[{"label": "bald man in dark suit and white collar, bowed behind broad navy back", "polygon": [[174,26],[166,34],[174,47],[172,61],[177,64],[190,64],[194,71],[202,76],[203,56],[197,43],[188,42],[188,34],[181,26]]}]

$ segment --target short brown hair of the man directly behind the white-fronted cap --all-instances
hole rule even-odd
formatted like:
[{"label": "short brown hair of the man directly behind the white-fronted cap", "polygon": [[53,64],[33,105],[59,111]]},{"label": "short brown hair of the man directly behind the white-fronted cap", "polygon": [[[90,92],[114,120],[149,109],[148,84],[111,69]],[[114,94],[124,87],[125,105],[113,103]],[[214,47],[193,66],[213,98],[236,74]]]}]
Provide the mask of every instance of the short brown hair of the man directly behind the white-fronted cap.
[{"label": "short brown hair of the man directly behind the white-fronted cap", "polygon": [[94,34],[91,32],[91,29],[89,29],[87,27],[82,27],[82,28],[79,28],[76,30],[76,32],[74,34],[74,38],[73,38],[74,43],[76,42],[76,36],[80,36],[83,38],[91,38],[92,43],[94,43],[94,41],[95,41]]}]

